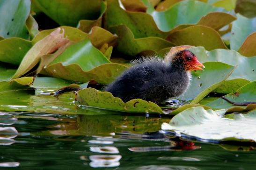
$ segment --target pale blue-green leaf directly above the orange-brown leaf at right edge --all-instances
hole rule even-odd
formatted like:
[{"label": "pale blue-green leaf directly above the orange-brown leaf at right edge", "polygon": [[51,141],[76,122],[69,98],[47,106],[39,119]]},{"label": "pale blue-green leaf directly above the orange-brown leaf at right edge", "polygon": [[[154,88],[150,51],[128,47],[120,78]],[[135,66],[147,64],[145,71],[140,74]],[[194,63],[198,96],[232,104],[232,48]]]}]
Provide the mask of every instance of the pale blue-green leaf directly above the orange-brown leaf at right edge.
[{"label": "pale blue-green leaf directly above the orange-brown leaf at right edge", "polygon": [[[251,33],[256,31],[256,18],[246,18],[237,14],[237,20],[233,22],[230,37],[230,48],[239,50],[242,43]],[[253,46],[251,48],[254,48]]]}]

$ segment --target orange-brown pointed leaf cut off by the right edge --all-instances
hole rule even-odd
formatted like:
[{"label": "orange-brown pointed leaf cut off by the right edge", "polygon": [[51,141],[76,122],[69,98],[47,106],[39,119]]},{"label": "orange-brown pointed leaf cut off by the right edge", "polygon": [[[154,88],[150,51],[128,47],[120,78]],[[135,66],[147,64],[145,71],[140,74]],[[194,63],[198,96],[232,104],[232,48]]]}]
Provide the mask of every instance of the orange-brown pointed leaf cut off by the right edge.
[{"label": "orange-brown pointed leaf cut off by the right edge", "polygon": [[238,52],[246,57],[252,57],[252,56],[256,56],[256,32],[250,34],[245,41],[243,42],[243,44],[241,45],[241,47],[239,48]]}]

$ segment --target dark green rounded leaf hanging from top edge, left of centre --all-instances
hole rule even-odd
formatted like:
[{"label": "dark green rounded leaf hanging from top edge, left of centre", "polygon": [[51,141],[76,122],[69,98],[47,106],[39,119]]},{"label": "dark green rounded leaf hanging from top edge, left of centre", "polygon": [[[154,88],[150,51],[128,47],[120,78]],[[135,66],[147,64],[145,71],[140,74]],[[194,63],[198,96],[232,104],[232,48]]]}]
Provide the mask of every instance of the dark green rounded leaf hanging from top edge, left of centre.
[{"label": "dark green rounded leaf hanging from top edge, left of centre", "polygon": [[[59,25],[73,26],[79,20],[95,20],[100,15],[101,0],[33,0],[41,11]],[[58,10],[56,10],[58,9]],[[75,11],[75,12],[72,12]]]}]

